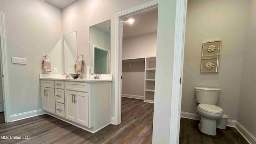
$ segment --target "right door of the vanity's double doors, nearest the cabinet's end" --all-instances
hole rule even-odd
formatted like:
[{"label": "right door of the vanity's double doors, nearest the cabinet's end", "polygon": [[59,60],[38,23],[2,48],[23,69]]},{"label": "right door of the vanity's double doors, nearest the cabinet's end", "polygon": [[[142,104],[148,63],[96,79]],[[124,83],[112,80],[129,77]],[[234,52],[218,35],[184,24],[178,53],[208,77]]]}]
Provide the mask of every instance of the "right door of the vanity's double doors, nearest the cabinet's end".
[{"label": "right door of the vanity's double doors, nearest the cabinet's end", "polygon": [[76,104],[76,122],[88,126],[88,94],[84,92],[74,92],[74,102]]}]

